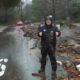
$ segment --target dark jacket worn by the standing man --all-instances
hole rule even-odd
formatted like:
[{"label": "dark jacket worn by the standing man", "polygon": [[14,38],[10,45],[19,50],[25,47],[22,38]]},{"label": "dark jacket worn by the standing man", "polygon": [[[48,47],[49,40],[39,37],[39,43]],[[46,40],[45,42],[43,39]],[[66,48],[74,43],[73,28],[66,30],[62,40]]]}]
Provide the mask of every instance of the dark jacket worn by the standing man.
[{"label": "dark jacket worn by the standing man", "polygon": [[56,32],[59,33],[58,36],[60,36],[61,34],[61,32],[57,29],[56,26],[39,27],[39,32],[42,32],[41,45],[48,46],[48,47],[50,47],[51,45],[55,47],[56,46]]}]

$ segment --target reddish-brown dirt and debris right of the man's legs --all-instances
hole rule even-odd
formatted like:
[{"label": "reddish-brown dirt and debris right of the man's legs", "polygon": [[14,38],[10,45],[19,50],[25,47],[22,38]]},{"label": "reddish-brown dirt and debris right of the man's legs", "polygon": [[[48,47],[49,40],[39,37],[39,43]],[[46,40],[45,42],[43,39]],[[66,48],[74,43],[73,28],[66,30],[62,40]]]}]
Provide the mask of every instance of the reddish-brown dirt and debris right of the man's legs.
[{"label": "reddish-brown dirt and debris right of the man's legs", "polygon": [[[61,43],[57,48],[58,56],[68,57],[70,60],[62,61],[64,69],[69,75],[69,80],[80,79],[80,47],[68,44],[68,42]],[[76,79],[72,79],[76,78]],[[79,79],[78,79],[79,78]],[[62,79],[65,80],[65,79]]]}]

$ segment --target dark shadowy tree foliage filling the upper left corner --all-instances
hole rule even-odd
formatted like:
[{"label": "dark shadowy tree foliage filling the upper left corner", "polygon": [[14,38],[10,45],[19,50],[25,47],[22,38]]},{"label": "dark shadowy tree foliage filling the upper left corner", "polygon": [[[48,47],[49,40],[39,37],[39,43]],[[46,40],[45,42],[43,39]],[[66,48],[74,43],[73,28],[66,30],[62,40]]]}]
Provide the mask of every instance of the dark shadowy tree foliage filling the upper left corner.
[{"label": "dark shadowy tree foliage filling the upper left corner", "polygon": [[21,0],[0,0],[0,23],[7,24],[15,18],[15,7]]}]

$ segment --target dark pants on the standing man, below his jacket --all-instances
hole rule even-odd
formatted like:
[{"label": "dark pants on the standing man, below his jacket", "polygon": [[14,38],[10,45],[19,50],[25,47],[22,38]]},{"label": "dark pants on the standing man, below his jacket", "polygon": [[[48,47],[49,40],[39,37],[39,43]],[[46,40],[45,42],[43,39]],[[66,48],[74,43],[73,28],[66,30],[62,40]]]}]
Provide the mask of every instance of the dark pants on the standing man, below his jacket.
[{"label": "dark pants on the standing man, below his jacket", "polygon": [[55,58],[55,47],[52,46],[42,46],[41,47],[41,70],[45,71],[45,66],[46,66],[46,57],[47,55],[50,58],[51,61],[51,66],[52,66],[52,71],[56,72],[57,70],[57,63],[56,63],[56,58]]}]

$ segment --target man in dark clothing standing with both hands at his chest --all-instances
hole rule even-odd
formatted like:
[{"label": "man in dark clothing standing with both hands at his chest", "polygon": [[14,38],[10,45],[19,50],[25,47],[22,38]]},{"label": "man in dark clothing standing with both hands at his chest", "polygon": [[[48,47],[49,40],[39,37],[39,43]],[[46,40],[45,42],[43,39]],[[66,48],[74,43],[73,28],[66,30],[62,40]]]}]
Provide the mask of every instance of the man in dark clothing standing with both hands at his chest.
[{"label": "man in dark clothing standing with both hands at his chest", "polygon": [[51,16],[45,18],[45,25],[39,27],[38,35],[41,37],[41,69],[40,74],[45,75],[46,57],[50,58],[52,66],[52,76],[56,76],[57,63],[55,57],[56,50],[56,37],[60,36],[60,31],[56,26],[53,26],[53,20]]}]

